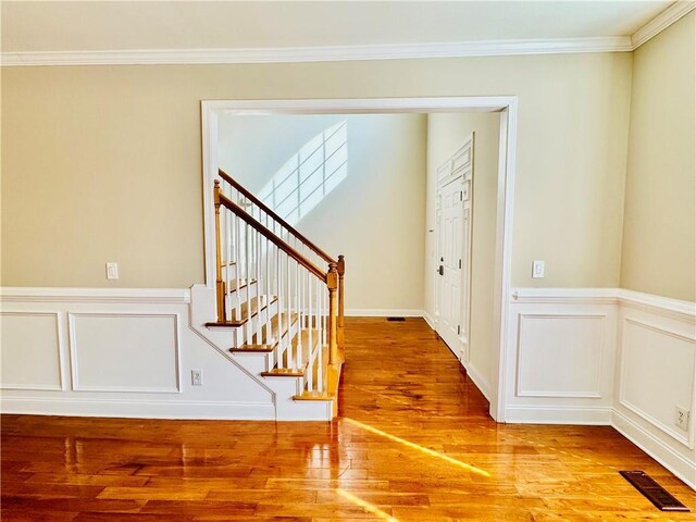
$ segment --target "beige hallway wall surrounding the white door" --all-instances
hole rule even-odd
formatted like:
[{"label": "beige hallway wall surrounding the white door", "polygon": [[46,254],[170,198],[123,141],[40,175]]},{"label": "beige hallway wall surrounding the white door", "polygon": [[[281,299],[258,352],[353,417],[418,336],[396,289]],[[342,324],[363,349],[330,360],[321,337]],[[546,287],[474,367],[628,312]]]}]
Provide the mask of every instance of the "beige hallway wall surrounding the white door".
[{"label": "beige hallway wall surrounding the white door", "polygon": [[[494,282],[496,253],[496,203],[500,114],[430,114],[427,117],[426,229],[436,229],[437,167],[475,133],[471,265],[470,364],[494,382],[493,345]],[[428,233],[425,248],[425,311],[435,315],[435,233]]]}]

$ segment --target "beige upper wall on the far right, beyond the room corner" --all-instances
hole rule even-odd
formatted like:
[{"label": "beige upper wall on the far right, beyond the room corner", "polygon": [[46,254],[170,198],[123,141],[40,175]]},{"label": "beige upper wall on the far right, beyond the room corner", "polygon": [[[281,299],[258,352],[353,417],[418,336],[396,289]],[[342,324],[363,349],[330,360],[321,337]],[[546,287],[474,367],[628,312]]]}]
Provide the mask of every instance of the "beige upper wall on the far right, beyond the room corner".
[{"label": "beige upper wall on the far right, beyond the room corner", "polygon": [[633,95],[621,286],[696,300],[696,13],[641,46]]}]

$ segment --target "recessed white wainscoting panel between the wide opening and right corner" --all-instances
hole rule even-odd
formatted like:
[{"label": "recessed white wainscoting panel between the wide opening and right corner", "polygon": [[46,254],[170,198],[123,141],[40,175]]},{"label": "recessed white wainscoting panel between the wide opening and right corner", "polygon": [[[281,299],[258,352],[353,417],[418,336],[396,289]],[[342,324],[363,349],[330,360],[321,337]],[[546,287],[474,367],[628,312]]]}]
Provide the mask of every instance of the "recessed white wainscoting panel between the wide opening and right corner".
[{"label": "recessed white wainscoting panel between the wide opening and right corner", "polygon": [[519,397],[601,397],[607,316],[519,315]]}]

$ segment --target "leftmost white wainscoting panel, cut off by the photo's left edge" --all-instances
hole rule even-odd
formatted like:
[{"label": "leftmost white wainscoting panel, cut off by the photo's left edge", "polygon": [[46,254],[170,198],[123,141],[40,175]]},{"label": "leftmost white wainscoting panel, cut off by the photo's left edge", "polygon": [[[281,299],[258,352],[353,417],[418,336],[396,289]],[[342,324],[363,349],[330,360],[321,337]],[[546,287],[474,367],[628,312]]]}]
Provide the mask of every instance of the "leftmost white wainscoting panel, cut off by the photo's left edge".
[{"label": "leftmost white wainscoting panel, cut off by the photo's left edge", "polygon": [[2,389],[62,389],[60,314],[3,310],[0,322]]}]

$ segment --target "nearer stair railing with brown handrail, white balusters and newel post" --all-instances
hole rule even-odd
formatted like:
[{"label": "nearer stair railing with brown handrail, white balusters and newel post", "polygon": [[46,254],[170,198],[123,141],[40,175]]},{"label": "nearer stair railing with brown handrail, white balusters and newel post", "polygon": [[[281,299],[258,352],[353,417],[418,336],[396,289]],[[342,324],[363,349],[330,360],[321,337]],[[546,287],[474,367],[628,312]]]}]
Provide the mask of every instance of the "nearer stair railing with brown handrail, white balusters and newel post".
[{"label": "nearer stair railing with brown handrail, white balusters and newel post", "polygon": [[[243,326],[247,345],[271,345],[273,366],[324,393],[338,352],[338,263],[322,270],[214,185],[216,325]],[[235,282],[234,298],[231,283]],[[327,353],[324,355],[324,347]],[[327,356],[327,357],[326,357]],[[327,360],[326,360],[327,359]]]}]

